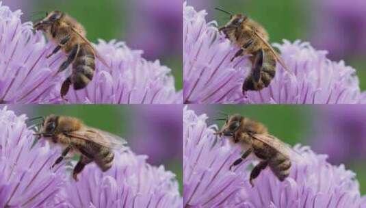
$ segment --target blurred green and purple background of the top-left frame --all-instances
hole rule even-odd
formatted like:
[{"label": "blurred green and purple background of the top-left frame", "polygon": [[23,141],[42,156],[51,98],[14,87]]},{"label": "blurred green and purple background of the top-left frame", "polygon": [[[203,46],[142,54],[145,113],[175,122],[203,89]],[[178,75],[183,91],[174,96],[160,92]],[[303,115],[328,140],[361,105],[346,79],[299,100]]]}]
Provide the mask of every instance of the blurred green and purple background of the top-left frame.
[{"label": "blurred green and purple background of the top-left frame", "polygon": [[64,11],[86,27],[88,39],[120,40],[143,57],[172,69],[182,88],[183,13],[179,0],[2,0],[22,10],[22,21],[37,21],[52,10]]}]

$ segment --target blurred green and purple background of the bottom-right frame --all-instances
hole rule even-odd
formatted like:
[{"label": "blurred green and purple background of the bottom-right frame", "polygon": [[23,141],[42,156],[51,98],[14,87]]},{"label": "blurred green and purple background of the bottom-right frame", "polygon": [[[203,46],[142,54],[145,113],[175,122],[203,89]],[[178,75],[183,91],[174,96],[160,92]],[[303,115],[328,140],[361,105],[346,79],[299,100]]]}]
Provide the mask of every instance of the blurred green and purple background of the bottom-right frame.
[{"label": "blurred green and purple background of the bottom-right frame", "polygon": [[262,122],[284,142],[311,146],[327,154],[333,165],[344,164],[356,172],[361,193],[366,194],[366,105],[189,105],[207,114],[210,125],[221,128],[226,114],[241,114]]}]

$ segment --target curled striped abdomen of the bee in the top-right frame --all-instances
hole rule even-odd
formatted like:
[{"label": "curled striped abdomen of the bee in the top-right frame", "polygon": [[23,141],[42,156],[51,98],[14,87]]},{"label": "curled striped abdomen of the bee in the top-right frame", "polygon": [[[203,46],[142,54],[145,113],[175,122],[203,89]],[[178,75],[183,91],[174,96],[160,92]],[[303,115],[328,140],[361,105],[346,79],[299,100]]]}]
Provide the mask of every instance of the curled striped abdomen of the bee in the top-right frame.
[{"label": "curled striped abdomen of the bee in the top-right frame", "polygon": [[[263,49],[263,58],[261,61],[259,61],[259,66],[256,66],[255,64],[258,62],[254,61],[256,58],[258,58],[256,57],[257,55],[258,53],[254,55],[252,59],[252,72],[250,75],[248,75],[248,77],[246,77],[246,80],[243,83],[242,90],[244,92],[248,90],[259,91],[263,88],[267,88],[276,74],[276,57],[274,57],[270,49]],[[253,76],[253,70],[255,70],[255,67],[260,68],[260,77],[258,81],[254,79]]]}]

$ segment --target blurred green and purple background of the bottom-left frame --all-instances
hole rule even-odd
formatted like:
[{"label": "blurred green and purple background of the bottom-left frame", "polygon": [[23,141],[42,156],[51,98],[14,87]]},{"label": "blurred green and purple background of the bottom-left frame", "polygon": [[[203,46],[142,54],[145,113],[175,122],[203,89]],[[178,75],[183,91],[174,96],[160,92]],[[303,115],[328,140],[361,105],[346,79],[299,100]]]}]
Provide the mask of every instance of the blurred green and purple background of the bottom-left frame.
[{"label": "blurred green and purple background of the bottom-left frame", "polygon": [[148,155],[148,163],[174,172],[182,191],[183,105],[8,105],[8,109],[28,118],[74,116],[119,135],[134,153]]}]

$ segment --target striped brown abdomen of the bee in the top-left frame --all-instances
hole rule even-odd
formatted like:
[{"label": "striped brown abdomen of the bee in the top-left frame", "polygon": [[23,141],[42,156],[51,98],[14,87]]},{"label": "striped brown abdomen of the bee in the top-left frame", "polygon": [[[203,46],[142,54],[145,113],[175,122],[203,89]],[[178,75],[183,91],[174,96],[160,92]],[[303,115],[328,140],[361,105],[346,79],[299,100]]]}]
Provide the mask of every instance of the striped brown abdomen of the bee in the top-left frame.
[{"label": "striped brown abdomen of the bee in the top-left frame", "polygon": [[95,56],[92,47],[86,43],[80,44],[79,52],[73,62],[71,82],[75,90],[85,88],[92,80],[95,70]]}]

